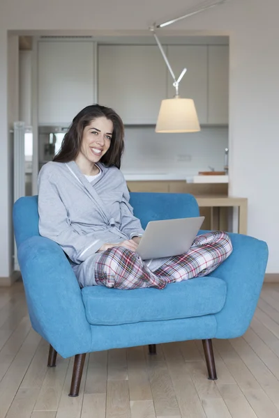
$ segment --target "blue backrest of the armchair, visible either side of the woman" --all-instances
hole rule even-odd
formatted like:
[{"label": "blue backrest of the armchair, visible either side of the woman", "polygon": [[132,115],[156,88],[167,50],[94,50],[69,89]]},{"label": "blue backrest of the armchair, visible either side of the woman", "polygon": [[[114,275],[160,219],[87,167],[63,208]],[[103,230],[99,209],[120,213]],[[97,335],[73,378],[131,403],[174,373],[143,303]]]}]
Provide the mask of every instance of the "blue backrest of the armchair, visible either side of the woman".
[{"label": "blue backrest of the armchair, visible either side of the woman", "polygon": [[[134,192],[130,193],[130,204],[143,228],[149,221],[199,216],[197,201],[191,194]],[[15,202],[13,225],[17,248],[27,238],[40,235],[38,220],[38,196],[21,197]]]}]

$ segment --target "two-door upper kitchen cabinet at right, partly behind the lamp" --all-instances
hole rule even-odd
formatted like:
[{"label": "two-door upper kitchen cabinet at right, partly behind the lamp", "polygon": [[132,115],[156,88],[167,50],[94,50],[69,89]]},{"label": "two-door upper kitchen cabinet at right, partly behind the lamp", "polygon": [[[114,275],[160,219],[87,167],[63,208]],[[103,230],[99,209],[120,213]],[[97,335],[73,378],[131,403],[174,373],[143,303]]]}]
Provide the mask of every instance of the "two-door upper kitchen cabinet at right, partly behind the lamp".
[{"label": "two-door upper kitchen cabinet at right, partly behind the lamp", "polygon": [[[179,84],[181,98],[195,102],[199,123],[227,125],[229,114],[229,46],[169,45],[167,56],[176,78],[183,68],[186,75]],[[167,96],[174,96],[168,75]]]}]

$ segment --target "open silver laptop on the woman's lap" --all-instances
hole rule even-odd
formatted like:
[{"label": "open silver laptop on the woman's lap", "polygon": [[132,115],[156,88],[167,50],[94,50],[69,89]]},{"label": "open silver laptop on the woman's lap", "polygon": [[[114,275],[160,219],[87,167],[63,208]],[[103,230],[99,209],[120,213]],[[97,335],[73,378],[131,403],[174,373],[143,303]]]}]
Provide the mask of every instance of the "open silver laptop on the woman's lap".
[{"label": "open silver laptop on the woman's lap", "polygon": [[137,247],[143,260],[184,254],[190,249],[204,216],[151,221]]}]

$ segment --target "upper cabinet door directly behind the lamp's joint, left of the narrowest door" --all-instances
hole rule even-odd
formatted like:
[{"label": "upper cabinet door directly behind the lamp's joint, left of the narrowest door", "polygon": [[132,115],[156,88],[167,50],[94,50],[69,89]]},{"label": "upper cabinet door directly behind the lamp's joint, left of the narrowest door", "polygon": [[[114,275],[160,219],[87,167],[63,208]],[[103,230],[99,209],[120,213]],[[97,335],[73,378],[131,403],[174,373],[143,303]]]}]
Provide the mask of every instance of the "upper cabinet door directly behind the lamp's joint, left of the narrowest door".
[{"label": "upper cabinet door directly behind the lamp's joint, left of the narrowest door", "polygon": [[[183,68],[186,75],[179,84],[181,98],[193,99],[197,109],[199,123],[207,123],[207,46],[206,45],[169,45],[167,57],[176,79]],[[175,95],[173,80],[169,74],[167,95]]]}]

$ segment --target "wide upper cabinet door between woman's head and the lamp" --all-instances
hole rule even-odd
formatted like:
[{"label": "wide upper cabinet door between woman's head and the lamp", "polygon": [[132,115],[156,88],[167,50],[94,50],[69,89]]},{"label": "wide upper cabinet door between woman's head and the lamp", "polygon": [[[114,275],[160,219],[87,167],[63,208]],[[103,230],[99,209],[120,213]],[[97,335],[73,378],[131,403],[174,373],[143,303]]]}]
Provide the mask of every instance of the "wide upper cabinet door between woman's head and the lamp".
[{"label": "wide upper cabinet door between woman's head and the lamp", "polygon": [[167,70],[156,46],[100,45],[98,103],[125,124],[154,124],[166,98]]}]

